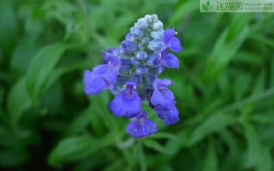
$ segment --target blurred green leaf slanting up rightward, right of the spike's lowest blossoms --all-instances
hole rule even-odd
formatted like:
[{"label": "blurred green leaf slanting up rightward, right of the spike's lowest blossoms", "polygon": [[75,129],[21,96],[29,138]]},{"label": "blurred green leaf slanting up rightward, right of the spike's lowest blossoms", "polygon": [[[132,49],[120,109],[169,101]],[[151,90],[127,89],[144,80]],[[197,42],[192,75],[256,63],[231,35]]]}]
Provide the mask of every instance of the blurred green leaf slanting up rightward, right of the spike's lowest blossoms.
[{"label": "blurred green leaf slanting up rightward, right of the spike's lowest blossoms", "polygon": [[217,132],[236,122],[232,114],[219,113],[209,116],[192,133],[190,133],[189,145],[193,145],[211,133]]}]

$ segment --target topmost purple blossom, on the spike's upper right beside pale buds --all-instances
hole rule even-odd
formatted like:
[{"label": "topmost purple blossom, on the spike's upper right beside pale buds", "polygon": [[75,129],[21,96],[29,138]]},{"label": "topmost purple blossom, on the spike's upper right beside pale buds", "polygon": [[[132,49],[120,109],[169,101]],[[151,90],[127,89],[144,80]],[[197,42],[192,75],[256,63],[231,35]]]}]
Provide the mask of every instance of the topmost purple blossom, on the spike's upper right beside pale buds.
[{"label": "topmost purple blossom, on the spike's upper right beside pale buds", "polygon": [[178,38],[175,38],[176,32],[174,29],[166,29],[164,31],[164,44],[169,47],[171,51],[179,52],[182,51],[181,42]]}]

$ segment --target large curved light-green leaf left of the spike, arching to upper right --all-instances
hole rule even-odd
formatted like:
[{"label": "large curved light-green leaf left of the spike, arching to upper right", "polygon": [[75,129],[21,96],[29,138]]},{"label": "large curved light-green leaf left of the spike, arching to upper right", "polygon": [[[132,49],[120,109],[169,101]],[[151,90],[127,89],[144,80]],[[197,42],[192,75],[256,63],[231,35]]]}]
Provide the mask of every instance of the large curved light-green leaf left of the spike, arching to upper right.
[{"label": "large curved light-green leaf left of the spike, arching to upper right", "polygon": [[40,49],[32,60],[27,71],[27,90],[34,105],[38,104],[38,98],[47,87],[49,75],[66,48],[62,43],[50,44]]}]

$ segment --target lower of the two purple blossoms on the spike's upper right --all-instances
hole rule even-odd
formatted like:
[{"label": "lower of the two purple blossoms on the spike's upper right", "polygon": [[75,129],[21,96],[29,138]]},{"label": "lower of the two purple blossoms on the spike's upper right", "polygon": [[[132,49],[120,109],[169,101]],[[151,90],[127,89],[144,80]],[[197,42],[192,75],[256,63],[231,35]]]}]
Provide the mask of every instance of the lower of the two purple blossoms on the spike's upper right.
[{"label": "lower of the two purple blossoms on the spike's upper right", "polygon": [[169,53],[167,49],[161,53],[161,62],[167,68],[179,68],[178,58],[172,53]]}]

